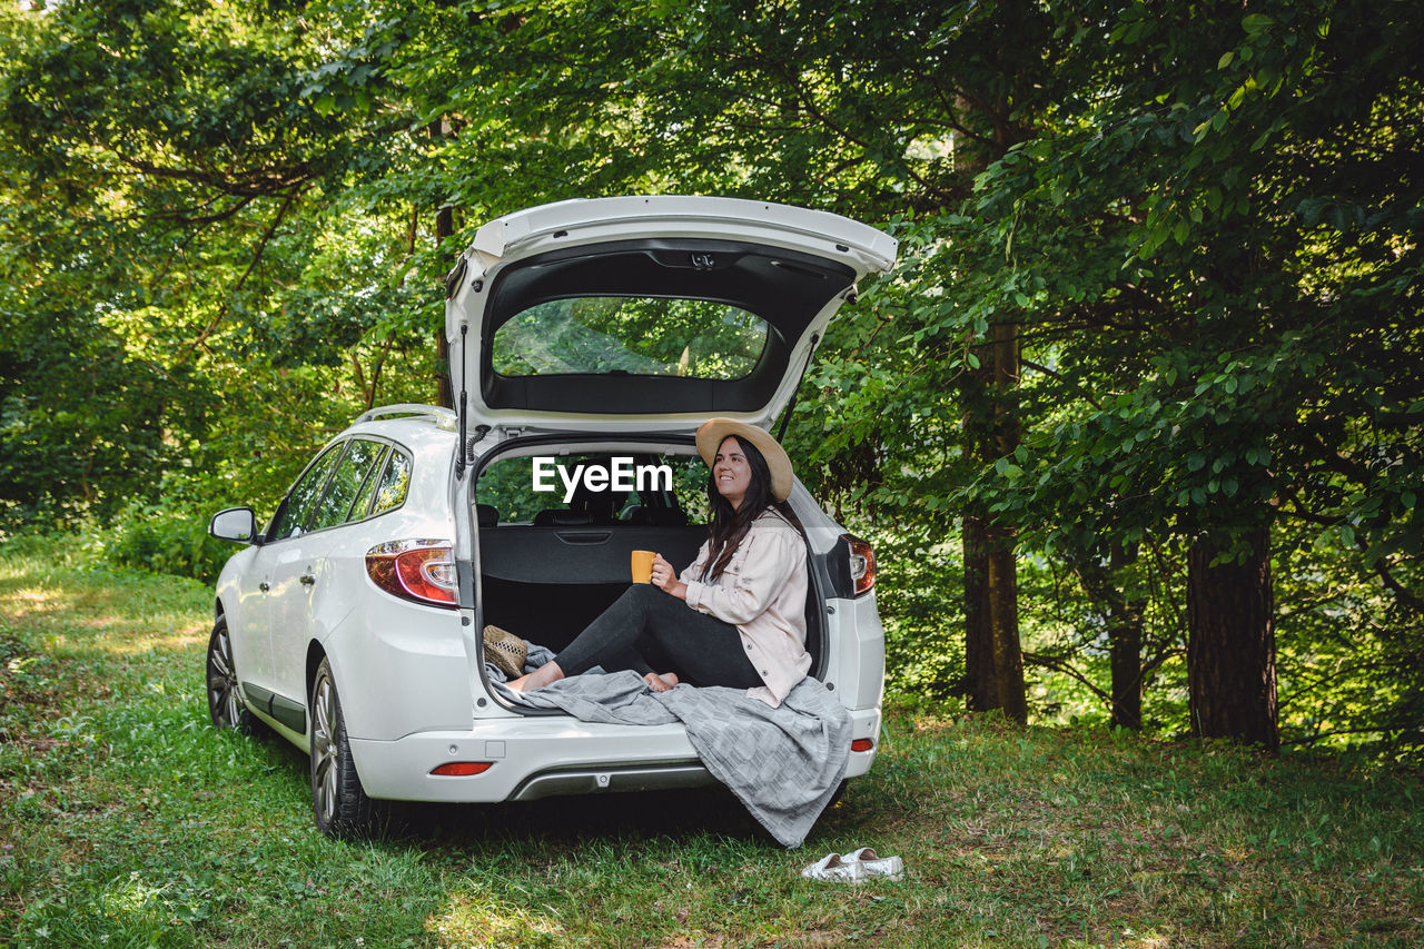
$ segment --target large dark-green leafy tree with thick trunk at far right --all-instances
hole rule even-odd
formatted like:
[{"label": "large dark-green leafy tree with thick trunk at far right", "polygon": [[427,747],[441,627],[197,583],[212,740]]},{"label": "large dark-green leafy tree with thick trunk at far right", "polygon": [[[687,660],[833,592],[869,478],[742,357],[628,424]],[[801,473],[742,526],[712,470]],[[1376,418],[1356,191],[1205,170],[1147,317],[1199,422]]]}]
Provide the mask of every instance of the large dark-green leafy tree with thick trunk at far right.
[{"label": "large dark-green leafy tree with thick trunk at far right", "polygon": [[1233,10],[1061,23],[1082,98],[991,168],[974,218],[1005,222],[980,256],[998,275],[983,305],[1030,311],[1045,385],[1078,409],[1040,430],[1037,465],[973,493],[1099,563],[1148,533],[1185,539],[1193,727],[1273,747],[1276,520],[1368,533],[1367,563],[1417,598],[1396,571],[1420,541],[1403,502],[1421,379],[1400,353],[1424,326],[1418,128],[1401,121],[1421,85],[1396,44],[1420,23]]}]

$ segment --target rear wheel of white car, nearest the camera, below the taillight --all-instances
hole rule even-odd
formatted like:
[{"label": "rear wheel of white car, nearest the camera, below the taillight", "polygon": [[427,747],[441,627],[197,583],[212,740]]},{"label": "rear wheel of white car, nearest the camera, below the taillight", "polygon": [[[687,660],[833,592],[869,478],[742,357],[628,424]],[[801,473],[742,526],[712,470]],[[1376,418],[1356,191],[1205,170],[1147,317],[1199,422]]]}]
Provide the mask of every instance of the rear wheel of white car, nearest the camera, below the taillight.
[{"label": "rear wheel of white car, nearest the camera, below the taillight", "polygon": [[346,718],[336,693],[332,664],[322,658],[312,678],[312,812],[322,834],[340,839],[370,836],[376,805],[356,775]]}]

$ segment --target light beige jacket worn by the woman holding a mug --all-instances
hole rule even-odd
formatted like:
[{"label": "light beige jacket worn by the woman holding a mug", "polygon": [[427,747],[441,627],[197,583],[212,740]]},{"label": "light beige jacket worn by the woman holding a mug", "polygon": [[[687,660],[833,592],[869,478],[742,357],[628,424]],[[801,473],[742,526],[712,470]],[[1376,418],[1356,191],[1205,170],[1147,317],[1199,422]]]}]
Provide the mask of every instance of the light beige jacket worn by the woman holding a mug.
[{"label": "light beige jacket worn by the woman holding a mug", "polygon": [[752,522],[722,576],[699,577],[708,541],[678,577],[688,584],[688,606],[731,623],[740,631],[746,657],[766,683],[748,695],[776,707],[806,678],[806,541],[785,517],[768,509]]}]

